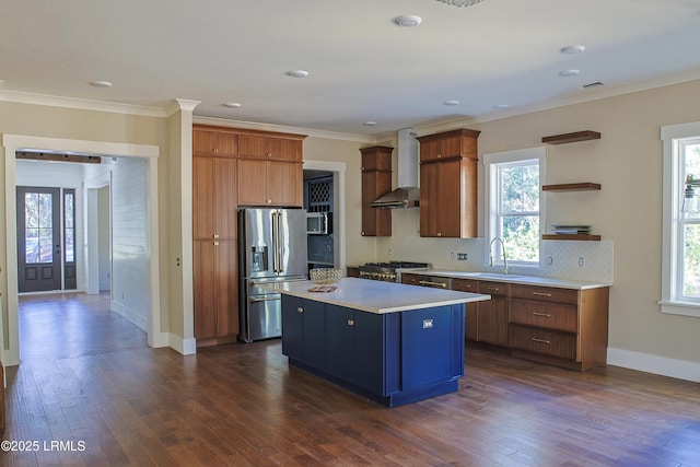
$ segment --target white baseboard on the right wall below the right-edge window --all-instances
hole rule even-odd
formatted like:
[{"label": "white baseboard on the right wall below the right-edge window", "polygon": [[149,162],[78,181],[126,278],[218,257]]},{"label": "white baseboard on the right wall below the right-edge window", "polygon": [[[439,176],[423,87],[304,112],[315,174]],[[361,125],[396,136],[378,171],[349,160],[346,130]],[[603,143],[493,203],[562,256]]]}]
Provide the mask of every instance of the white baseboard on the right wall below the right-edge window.
[{"label": "white baseboard on the right wall below the right-edge window", "polygon": [[608,347],[608,364],[700,383],[700,363]]}]

